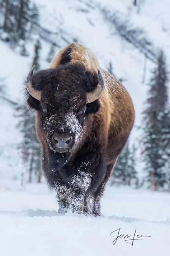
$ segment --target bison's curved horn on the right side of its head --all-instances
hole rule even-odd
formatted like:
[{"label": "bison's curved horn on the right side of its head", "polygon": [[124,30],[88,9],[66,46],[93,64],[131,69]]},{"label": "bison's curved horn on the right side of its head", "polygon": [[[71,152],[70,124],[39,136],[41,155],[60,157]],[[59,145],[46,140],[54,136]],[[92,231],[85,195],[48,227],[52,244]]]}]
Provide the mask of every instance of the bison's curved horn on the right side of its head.
[{"label": "bison's curved horn on the right side of its head", "polygon": [[96,89],[93,92],[86,93],[86,95],[87,95],[86,103],[87,104],[97,100],[104,90],[104,81],[103,81],[103,77],[102,77],[99,69],[98,69],[98,75],[99,75],[99,83],[98,83]]}]

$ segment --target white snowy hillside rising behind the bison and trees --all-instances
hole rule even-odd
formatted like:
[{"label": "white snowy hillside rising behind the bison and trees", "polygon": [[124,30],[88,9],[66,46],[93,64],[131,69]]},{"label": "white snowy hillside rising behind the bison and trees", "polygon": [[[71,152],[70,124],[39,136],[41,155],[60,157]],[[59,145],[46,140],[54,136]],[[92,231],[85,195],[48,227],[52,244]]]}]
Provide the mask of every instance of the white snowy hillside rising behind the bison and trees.
[{"label": "white snowy hillside rising behind the bison and trees", "polygon": [[[25,45],[29,56],[21,56],[19,49],[12,50],[7,43],[0,41],[0,53],[3,60],[0,74],[5,78],[6,92],[9,98],[16,102],[23,102],[22,82],[30,70],[33,59],[33,43],[37,38],[41,39],[42,44],[40,52],[41,68],[49,67],[46,59],[51,44],[47,38],[44,40],[46,36],[44,30],[51,31],[54,34],[48,39],[57,44],[55,47],[56,53],[73,40],[77,40],[95,53],[103,69],[108,70],[109,63],[112,63],[114,75],[118,79],[122,79],[122,83],[128,89],[134,103],[136,120],[131,137],[133,141],[136,141],[136,138],[139,138],[137,127],[141,126],[141,112],[146,101],[147,83],[155,65],[155,58],[152,56],[152,61],[147,58],[146,78],[145,83],[142,83],[145,56],[141,52],[141,47],[138,45],[135,47],[133,43],[128,42],[109,20],[109,15],[116,13],[122,23],[128,22],[129,29],[131,29],[131,26],[136,30],[141,28],[142,34],[140,37],[146,37],[155,54],[157,54],[158,49],[164,49],[169,63],[170,27],[167,22],[169,18],[167,6],[170,3],[164,0],[161,9],[155,7],[153,12],[151,6],[157,6],[157,1],[150,1],[150,3],[145,1],[141,6],[140,13],[137,13],[136,7],[131,2],[107,0],[99,3],[98,1],[58,0],[56,4],[55,0],[50,0],[47,4],[46,1],[36,0],[40,11],[39,22],[42,29],[37,29],[32,40]],[[103,8],[109,9],[110,14],[107,18],[102,12]],[[3,162],[5,161],[4,164],[8,165],[8,159],[11,153],[13,154],[13,163],[10,163],[11,167],[9,166],[9,169],[11,169],[11,172],[9,172],[11,178],[14,176],[19,178],[21,169],[18,167],[18,155],[20,151],[16,148],[21,136],[18,129],[16,129],[16,123],[18,122],[14,117],[16,111],[13,110],[11,105],[8,106],[3,100],[0,101],[2,115],[5,115],[6,107],[9,109],[1,127],[0,144],[6,145],[6,147],[5,150],[1,150],[0,157]],[[17,168],[15,168],[16,164]],[[6,176],[6,171],[1,169],[0,175],[1,177]]]}]

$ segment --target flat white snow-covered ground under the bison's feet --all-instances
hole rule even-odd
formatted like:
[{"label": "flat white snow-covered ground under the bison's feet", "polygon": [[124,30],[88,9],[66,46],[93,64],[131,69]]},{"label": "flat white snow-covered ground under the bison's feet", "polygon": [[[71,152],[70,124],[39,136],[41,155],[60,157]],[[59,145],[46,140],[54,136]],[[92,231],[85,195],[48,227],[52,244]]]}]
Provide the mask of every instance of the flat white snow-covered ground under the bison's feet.
[{"label": "flat white snow-covered ground under the bison's feet", "polygon": [[[3,181],[0,255],[168,255],[169,202],[169,193],[108,186],[100,217],[62,215],[57,213],[55,195],[48,191],[46,184],[27,184],[23,191],[17,182]],[[132,236],[118,238],[113,245],[117,229],[120,229],[119,235]],[[134,239],[138,234],[151,237],[134,240],[132,247],[132,240],[124,240],[133,239],[135,230]]]}]

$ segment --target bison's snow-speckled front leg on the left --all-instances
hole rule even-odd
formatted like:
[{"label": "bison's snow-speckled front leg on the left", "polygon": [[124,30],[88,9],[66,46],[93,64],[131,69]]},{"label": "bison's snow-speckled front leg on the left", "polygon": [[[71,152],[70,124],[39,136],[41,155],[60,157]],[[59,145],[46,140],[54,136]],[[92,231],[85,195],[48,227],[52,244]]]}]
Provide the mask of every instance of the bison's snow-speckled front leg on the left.
[{"label": "bison's snow-speckled front leg on the left", "polygon": [[59,205],[59,209],[58,212],[59,213],[66,213],[69,209],[70,206],[70,191],[69,189],[64,186],[58,186],[56,189],[57,192],[57,199],[58,199],[58,205]]}]

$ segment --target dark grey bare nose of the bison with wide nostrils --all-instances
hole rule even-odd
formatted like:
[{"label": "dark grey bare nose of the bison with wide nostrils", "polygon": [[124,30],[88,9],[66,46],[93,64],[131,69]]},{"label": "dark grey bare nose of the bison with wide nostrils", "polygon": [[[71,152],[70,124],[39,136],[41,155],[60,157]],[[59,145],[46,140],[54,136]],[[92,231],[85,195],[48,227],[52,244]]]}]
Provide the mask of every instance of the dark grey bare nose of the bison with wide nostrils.
[{"label": "dark grey bare nose of the bison with wide nostrils", "polygon": [[70,149],[71,143],[72,143],[72,138],[68,133],[56,133],[53,134],[52,139],[52,147],[55,150],[62,151],[60,149]]}]

